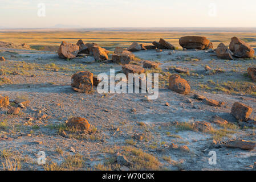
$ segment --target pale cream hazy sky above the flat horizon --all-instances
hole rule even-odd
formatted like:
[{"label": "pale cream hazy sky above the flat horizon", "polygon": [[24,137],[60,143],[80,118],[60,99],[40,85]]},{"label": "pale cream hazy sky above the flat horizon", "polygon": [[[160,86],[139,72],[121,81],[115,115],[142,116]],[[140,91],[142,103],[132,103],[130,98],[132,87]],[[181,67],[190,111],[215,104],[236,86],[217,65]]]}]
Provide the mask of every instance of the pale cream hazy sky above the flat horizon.
[{"label": "pale cream hazy sky above the flat horizon", "polygon": [[255,0],[0,0],[0,28],[256,27]]}]

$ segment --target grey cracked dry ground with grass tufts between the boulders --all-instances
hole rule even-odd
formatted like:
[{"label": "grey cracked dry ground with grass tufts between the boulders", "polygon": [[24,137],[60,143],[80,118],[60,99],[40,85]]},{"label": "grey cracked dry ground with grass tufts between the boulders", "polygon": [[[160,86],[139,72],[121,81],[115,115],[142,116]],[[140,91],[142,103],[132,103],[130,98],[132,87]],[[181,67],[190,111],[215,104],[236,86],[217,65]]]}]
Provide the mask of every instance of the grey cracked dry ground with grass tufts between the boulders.
[{"label": "grey cracked dry ground with grass tufts between the boulders", "polygon": [[[163,78],[159,98],[148,101],[147,94],[83,94],[71,88],[71,76],[77,71],[88,70],[97,75],[109,73],[111,68],[119,72],[121,65],[96,63],[91,57],[62,60],[52,52],[2,48],[6,61],[1,62],[5,72],[1,78],[11,82],[2,83],[0,95],[9,96],[10,101],[27,98],[30,103],[18,115],[1,109],[0,169],[6,169],[8,158],[9,164],[17,163],[20,170],[119,170],[122,164],[116,162],[116,153],[120,152],[131,162],[131,170],[252,170],[255,149],[220,147],[213,141],[256,142],[254,127],[239,127],[230,114],[231,106],[238,101],[251,106],[251,118],[255,118],[253,88],[241,89],[239,82],[255,86],[245,73],[256,60],[220,60],[205,51],[176,51],[172,55],[168,52],[139,51],[135,55],[159,61],[161,70],[157,72],[162,75],[175,73],[174,67],[189,69],[189,75],[181,76],[189,81],[192,93],[184,96],[169,90],[168,81]],[[206,75],[205,65],[224,72]],[[237,90],[218,89],[225,88],[221,87],[223,82],[238,82]],[[193,99],[194,93],[225,105],[205,105]],[[190,129],[196,121],[211,122],[216,114],[226,119],[229,127],[212,123],[215,133]],[[92,132],[66,131],[63,135],[63,124],[71,117],[87,118]],[[135,134],[143,139],[135,139]],[[171,143],[189,150],[169,148]],[[39,151],[46,153],[44,166],[36,163]],[[210,151],[217,153],[216,165],[209,164]]]}]

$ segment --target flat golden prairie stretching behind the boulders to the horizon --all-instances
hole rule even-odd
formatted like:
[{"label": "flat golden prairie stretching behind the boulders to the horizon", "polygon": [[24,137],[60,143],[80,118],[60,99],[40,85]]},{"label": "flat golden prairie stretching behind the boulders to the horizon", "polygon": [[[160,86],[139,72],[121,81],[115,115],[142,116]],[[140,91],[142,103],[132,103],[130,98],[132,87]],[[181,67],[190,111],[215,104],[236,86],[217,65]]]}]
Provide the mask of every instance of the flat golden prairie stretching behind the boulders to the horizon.
[{"label": "flat golden prairie stretching behind the boulders to the horizon", "polygon": [[82,39],[84,42],[94,42],[101,47],[113,50],[116,46],[128,47],[132,42],[148,45],[155,40],[163,38],[173,44],[173,46],[181,48],[178,44],[178,39],[187,35],[205,36],[213,42],[214,47],[217,47],[221,42],[228,46],[230,39],[233,36],[237,36],[249,43],[252,47],[256,47],[255,32],[0,31],[0,41],[13,42],[16,44],[27,43],[32,46],[32,48],[34,46],[36,49],[43,49],[43,46],[59,46],[63,40],[69,43],[76,43],[78,39]]}]

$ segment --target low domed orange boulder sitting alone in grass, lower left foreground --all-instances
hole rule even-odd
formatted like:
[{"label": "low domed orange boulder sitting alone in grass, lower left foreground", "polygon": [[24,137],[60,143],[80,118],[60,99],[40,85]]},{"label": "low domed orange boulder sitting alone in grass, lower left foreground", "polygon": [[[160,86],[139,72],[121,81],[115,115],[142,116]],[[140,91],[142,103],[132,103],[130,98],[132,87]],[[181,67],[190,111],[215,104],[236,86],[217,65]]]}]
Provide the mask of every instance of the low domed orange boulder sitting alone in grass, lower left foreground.
[{"label": "low domed orange boulder sitting alone in grass, lower left foreground", "polygon": [[90,123],[85,118],[70,118],[66,125],[74,128],[75,130],[88,131],[90,129]]}]

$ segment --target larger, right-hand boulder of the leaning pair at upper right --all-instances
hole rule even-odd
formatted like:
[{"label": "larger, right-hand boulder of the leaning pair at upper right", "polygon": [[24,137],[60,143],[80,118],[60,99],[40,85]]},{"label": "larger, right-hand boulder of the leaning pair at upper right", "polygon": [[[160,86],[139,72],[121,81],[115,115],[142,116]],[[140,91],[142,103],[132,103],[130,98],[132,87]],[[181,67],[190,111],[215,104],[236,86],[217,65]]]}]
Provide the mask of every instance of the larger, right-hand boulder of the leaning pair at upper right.
[{"label": "larger, right-hand boulder of the leaning pair at upper right", "polygon": [[243,40],[233,37],[229,44],[229,49],[234,53],[235,57],[249,58],[254,57],[254,49]]}]

